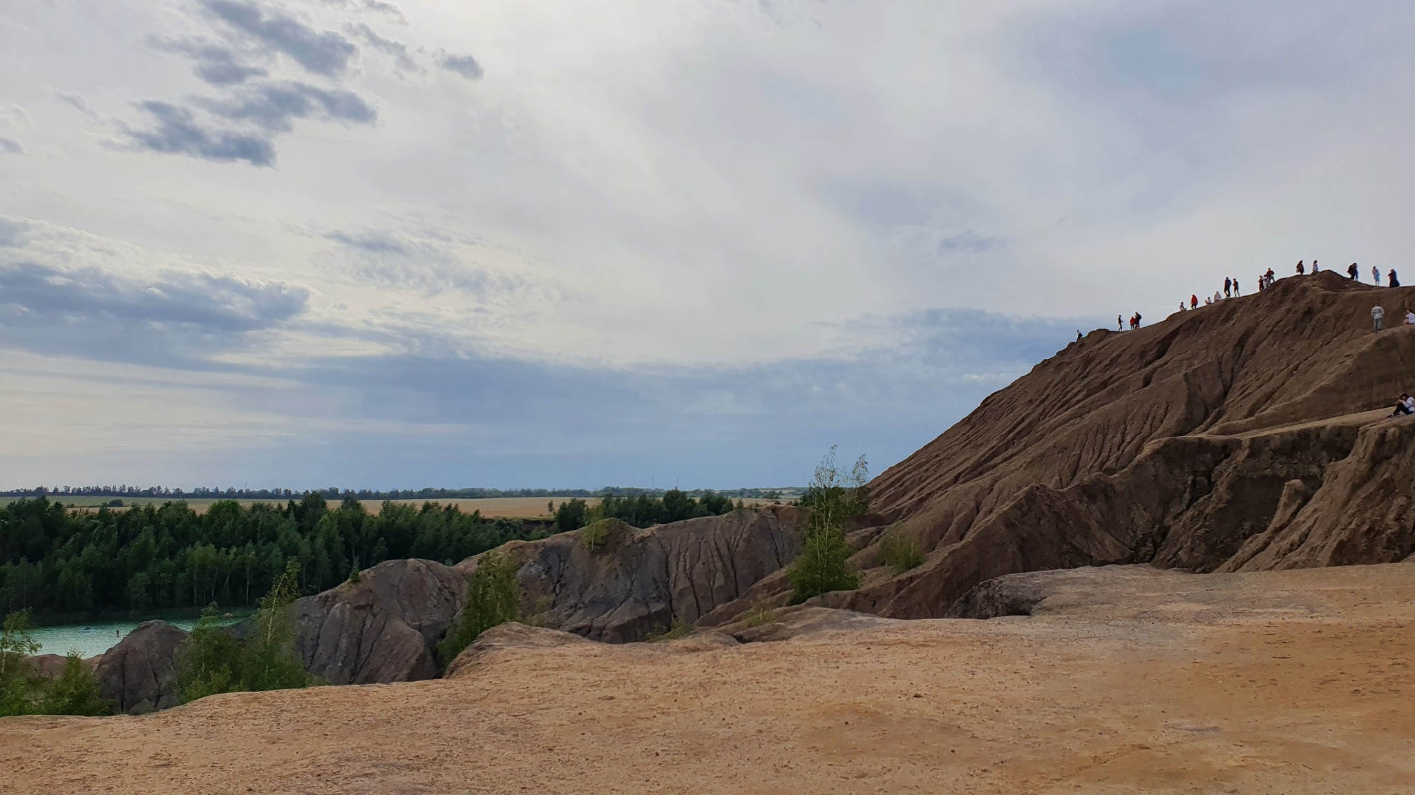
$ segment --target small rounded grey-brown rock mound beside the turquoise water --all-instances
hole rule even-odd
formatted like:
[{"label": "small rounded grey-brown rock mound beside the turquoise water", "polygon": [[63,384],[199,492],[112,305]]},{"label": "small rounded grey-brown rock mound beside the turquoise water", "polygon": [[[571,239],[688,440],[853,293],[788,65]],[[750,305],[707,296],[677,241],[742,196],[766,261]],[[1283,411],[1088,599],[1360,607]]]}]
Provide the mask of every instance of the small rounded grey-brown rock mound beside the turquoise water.
[{"label": "small rounded grey-brown rock mound beside the turquoise water", "polygon": [[99,659],[99,692],[127,714],[175,706],[177,649],[185,641],[187,632],[166,621],[139,624]]}]

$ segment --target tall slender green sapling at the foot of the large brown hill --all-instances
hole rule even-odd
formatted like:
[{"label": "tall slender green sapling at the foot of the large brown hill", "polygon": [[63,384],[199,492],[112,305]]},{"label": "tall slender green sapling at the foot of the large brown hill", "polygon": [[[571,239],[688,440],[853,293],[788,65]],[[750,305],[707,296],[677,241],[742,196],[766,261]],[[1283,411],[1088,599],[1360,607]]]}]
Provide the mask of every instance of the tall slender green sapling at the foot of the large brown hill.
[{"label": "tall slender green sapling at the foot of the large brown hill", "polygon": [[808,509],[801,555],[787,570],[792,604],[860,586],[849,564],[855,550],[845,542],[845,522],[869,509],[867,480],[865,455],[855,461],[849,472],[843,472],[835,465],[835,447],[815,467],[815,477],[801,498],[801,506]]}]

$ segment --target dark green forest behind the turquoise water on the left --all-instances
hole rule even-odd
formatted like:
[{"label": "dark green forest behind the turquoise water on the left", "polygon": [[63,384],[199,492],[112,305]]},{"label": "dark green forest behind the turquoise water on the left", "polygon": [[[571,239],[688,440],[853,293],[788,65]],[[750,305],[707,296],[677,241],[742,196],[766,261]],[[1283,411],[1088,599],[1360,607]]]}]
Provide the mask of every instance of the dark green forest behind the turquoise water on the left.
[{"label": "dark green forest behind the turquoise water on the left", "polygon": [[456,505],[385,502],[369,513],[355,499],[320,494],[283,505],[185,502],[127,511],[67,511],[48,498],[0,508],[0,613],[144,614],[253,607],[293,563],[294,587],[313,594],[358,567],[422,557],[456,563],[546,530],[485,519]]}]

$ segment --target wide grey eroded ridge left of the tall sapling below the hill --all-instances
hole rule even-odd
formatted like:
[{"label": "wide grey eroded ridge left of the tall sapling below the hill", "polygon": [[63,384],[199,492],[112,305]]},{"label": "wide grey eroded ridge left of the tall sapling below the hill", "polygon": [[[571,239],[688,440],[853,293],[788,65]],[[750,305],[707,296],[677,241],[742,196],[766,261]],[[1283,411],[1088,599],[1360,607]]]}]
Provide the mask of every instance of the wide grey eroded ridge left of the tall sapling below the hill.
[{"label": "wide grey eroded ridge left of the tall sapling below the hill", "polygon": [[[695,624],[795,557],[799,509],[767,506],[637,529],[614,519],[495,555],[518,566],[522,614],[594,641]],[[483,556],[458,564],[467,576]]]}]

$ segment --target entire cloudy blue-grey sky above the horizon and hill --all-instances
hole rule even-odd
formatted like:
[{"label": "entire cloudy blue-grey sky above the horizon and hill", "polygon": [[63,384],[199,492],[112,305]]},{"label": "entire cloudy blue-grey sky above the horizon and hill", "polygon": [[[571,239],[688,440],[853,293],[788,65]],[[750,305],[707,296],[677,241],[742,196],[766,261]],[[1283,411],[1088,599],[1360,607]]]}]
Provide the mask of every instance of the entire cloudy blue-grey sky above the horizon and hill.
[{"label": "entire cloudy blue-grey sky above the horizon and hill", "polygon": [[1412,28],[0,0],[0,487],[730,488],[831,444],[880,471],[1077,328],[1405,266]]}]

